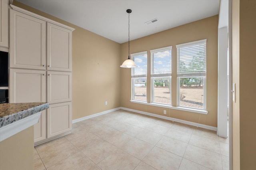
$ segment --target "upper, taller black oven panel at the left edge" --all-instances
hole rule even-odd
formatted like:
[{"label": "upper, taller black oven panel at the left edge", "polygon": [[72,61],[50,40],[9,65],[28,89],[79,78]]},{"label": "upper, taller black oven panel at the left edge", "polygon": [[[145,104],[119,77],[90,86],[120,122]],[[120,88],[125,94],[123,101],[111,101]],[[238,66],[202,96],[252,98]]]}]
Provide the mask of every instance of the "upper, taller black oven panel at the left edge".
[{"label": "upper, taller black oven panel at the left edge", "polygon": [[0,51],[0,87],[8,87],[9,53]]}]

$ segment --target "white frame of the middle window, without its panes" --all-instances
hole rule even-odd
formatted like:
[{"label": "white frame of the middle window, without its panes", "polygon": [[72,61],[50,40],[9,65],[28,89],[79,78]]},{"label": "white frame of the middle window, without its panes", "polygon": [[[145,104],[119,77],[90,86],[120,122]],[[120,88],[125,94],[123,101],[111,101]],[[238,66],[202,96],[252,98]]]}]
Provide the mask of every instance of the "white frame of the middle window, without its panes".
[{"label": "white frame of the middle window, without its panes", "polygon": [[[170,64],[171,64],[171,68],[170,68],[170,73],[163,73],[163,74],[154,74],[154,63],[153,63],[153,57],[154,57],[154,53],[156,52],[160,52],[160,51],[167,51],[170,50],[171,53],[171,58],[170,58]],[[152,49],[150,50],[150,63],[151,63],[151,77],[150,77],[150,81],[151,81],[151,90],[150,90],[150,103],[156,103],[156,104],[160,104],[160,105],[172,105],[172,46],[168,46],[168,47],[162,47],[162,48],[158,48],[158,49]],[[170,91],[170,102],[169,104],[166,103],[159,103],[159,102],[155,102],[154,101],[154,79],[155,78],[168,78],[170,80],[169,83],[169,91]]]}]

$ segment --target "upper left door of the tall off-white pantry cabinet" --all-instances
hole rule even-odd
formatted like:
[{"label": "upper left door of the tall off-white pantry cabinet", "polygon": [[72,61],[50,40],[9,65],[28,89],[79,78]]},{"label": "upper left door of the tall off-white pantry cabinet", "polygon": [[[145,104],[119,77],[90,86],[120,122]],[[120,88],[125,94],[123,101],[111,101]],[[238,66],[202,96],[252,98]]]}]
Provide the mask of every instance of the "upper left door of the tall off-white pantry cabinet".
[{"label": "upper left door of the tall off-white pantry cabinet", "polygon": [[10,67],[46,69],[46,22],[11,9]]}]

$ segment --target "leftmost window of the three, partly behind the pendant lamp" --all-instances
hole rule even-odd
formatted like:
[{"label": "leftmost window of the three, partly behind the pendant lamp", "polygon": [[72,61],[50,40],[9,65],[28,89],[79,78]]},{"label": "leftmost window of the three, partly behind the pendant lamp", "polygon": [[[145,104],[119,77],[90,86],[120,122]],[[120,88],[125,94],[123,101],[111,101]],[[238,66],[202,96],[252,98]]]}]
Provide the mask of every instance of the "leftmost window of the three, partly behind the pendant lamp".
[{"label": "leftmost window of the three, partly behind the pendant lamp", "polygon": [[138,67],[132,68],[132,100],[147,101],[147,51],[131,54]]}]

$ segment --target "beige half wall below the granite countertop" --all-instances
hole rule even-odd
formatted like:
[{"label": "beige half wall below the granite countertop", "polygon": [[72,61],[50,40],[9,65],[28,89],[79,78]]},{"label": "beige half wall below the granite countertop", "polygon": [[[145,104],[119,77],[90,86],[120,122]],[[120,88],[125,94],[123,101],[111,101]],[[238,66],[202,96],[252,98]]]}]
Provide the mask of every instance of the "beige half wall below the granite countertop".
[{"label": "beige half wall below the granite countertop", "polygon": [[34,128],[0,142],[0,170],[34,170]]}]

